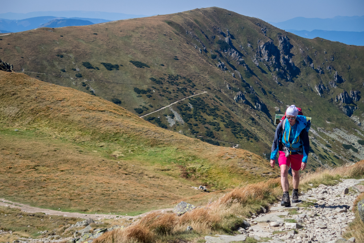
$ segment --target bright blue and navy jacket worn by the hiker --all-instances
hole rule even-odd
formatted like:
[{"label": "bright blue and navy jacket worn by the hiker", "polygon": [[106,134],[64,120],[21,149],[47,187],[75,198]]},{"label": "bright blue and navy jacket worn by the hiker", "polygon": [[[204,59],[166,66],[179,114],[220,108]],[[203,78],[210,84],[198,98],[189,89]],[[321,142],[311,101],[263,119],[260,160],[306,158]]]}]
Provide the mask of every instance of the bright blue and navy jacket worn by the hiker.
[{"label": "bright blue and navy jacket worn by the hiker", "polygon": [[[283,130],[284,136],[282,136],[281,127],[282,123],[279,123],[276,129],[276,134],[274,135],[274,141],[272,144],[272,153],[270,154],[270,159],[276,159],[279,149],[284,144],[285,147],[303,148],[303,158],[302,162],[307,163],[307,155],[309,153],[310,141],[308,138],[309,125],[306,122],[305,116],[297,116],[296,124],[291,127],[288,120],[285,122],[285,128]],[[289,142],[289,134],[293,136],[292,143]],[[292,139],[291,139],[292,140]],[[281,145],[281,146],[280,146]],[[294,152],[294,151],[292,151]]]}]

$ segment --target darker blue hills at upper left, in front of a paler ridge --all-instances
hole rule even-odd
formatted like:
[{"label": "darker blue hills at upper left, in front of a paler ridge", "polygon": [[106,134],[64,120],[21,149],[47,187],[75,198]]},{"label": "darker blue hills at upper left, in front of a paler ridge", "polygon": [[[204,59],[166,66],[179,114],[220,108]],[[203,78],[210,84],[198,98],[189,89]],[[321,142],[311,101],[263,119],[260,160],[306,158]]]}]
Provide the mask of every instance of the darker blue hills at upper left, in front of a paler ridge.
[{"label": "darker blue hills at upper left, in front of a paler ridge", "polygon": [[63,20],[62,22],[63,25],[61,24],[62,26],[58,25],[58,26],[52,26],[52,27],[47,26],[47,27],[54,28],[54,27],[64,27],[72,25],[89,25],[89,24],[98,24],[110,21],[106,19],[87,19],[87,18],[68,19],[65,17],[41,16],[41,17],[33,17],[21,20],[0,19],[0,29],[6,29],[9,32],[27,31],[29,29],[35,29],[38,28],[39,26],[45,25],[52,20]]}]

